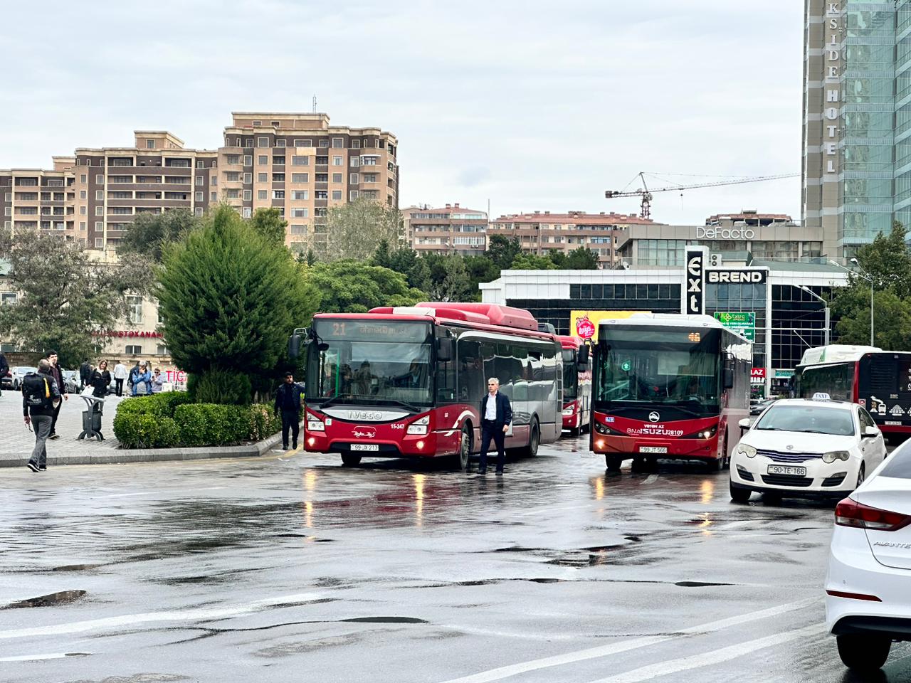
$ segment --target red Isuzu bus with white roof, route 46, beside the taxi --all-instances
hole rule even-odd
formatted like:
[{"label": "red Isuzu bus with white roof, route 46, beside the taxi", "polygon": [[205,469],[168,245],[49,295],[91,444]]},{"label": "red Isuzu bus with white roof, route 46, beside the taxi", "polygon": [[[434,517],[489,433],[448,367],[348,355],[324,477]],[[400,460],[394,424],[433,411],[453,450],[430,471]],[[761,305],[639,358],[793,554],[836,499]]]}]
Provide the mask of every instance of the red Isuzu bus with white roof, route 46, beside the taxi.
[{"label": "red Isuzu bus with white roof, route 46, beside the taxi", "polygon": [[624,460],[689,459],[720,470],[749,413],[752,345],[707,315],[601,321],[590,443]]}]

